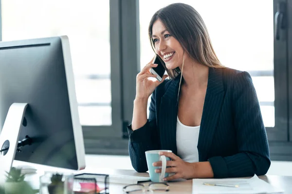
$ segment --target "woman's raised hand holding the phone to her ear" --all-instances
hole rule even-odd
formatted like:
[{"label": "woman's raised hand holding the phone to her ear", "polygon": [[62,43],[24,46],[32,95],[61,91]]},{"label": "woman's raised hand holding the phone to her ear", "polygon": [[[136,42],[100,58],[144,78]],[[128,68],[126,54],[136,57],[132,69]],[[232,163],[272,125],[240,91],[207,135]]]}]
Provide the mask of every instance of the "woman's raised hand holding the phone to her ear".
[{"label": "woman's raised hand holding the phone to her ear", "polygon": [[155,88],[168,77],[168,75],[164,75],[162,81],[152,81],[148,79],[149,77],[157,77],[157,75],[150,73],[150,68],[157,66],[157,64],[152,64],[153,59],[141,70],[140,73],[138,73],[136,77],[136,99],[148,99]]}]

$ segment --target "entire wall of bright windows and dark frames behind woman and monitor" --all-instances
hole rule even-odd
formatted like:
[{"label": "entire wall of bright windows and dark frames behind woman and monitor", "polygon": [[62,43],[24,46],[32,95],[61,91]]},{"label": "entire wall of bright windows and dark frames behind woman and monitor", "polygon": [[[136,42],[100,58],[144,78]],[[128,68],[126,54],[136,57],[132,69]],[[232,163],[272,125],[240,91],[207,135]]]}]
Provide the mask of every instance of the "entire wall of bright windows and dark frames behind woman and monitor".
[{"label": "entire wall of bright windows and dark frames behind woman and monitor", "polygon": [[68,35],[86,153],[128,166],[136,75],[154,55],[148,23],[174,2],[201,14],[223,65],[251,74],[271,159],[292,161],[292,0],[0,0],[0,40]]}]

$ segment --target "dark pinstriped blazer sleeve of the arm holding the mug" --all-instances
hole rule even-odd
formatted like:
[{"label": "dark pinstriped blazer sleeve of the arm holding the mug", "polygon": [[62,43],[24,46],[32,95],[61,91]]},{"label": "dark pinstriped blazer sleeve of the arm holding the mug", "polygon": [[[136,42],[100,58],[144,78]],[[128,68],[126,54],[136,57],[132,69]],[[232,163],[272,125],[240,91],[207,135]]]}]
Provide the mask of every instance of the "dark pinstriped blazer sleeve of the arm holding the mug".
[{"label": "dark pinstriped blazer sleeve of the arm holding the mug", "polygon": [[265,175],[271,164],[269,146],[249,73],[241,72],[235,78],[232,103],[238,153],[208,159],[214,178]]}]

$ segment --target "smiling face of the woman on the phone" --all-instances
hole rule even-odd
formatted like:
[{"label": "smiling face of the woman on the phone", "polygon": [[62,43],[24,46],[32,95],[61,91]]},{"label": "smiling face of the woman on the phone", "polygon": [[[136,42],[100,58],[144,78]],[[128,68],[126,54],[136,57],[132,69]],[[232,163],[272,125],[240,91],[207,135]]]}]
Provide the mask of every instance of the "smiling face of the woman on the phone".
[{"label": "smiling face of the woman on the phone", "polygon": [[163,59],[167,69],[175,69],[183,64],[183,47],[158,19],[152,27],[155,52]]}]

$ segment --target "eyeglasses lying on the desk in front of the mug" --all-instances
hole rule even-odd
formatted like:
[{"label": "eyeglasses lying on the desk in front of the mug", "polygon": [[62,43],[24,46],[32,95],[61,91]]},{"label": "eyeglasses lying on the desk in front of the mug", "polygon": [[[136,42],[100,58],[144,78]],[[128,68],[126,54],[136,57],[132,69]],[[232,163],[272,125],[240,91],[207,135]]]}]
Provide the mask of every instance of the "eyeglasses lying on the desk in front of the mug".
[{"label": "eyeglasses lying on the desk in front of the mug", "polygon": [[152,193],[154,192],[168,192],[169,191],[169,185],[165,182],[159,182],[159,183],[150,183],[148,185],[143,184],[132,184],[127,185],[123,188],[123,192],[126,194],[134,194],[136,192],[147,192],[150,191]]}]

